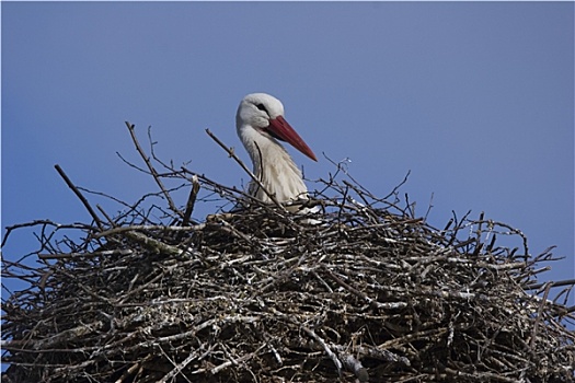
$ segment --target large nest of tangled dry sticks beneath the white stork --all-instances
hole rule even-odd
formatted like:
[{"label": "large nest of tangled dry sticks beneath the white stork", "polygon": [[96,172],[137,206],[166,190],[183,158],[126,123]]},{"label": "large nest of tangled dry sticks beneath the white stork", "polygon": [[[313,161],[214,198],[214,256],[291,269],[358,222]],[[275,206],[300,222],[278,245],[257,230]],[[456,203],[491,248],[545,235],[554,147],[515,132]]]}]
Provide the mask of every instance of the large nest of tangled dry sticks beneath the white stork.
[{"label": "large nest of tangled dry sticks beneath the white stork", "polygon": [[[520,231],[481,216],[435,229],[342,172],[303,217],[145,159],[165,209],[142,198],[101,219],[60,170],[94,221],[24,224],[41,249],[3,260],[30,283],[3,302],[7,382],[574,381],[572,285],[550,298],[561,283],[536,263],[552,255]],[[168,178],[192,188],[182,209]],[[237,208],[191,219],[216,196]]]}]

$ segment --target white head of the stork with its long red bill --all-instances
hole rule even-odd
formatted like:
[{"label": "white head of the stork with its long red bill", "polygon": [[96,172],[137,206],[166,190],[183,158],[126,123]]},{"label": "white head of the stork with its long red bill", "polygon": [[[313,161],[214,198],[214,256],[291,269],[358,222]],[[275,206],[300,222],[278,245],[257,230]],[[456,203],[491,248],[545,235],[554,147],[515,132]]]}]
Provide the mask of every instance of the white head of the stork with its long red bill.
[{"label": "white head of the stork with its long red bill", "polygon": [[281,102],[269,94],[252,93],[243,97],[238,107],[235,124],[242,141],[252,135],[261,135],[269,140],[286,141],[313,161],[318,161],[313,151],[284,118]]}]

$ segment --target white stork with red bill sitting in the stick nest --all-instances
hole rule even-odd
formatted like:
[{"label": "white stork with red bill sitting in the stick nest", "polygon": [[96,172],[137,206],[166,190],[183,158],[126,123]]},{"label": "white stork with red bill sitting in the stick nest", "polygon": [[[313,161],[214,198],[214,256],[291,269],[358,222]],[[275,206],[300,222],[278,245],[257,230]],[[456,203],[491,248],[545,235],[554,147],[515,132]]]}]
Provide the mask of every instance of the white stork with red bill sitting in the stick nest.
[{"label": "white stork with red bill sitting in the stick nest", "polygon": [[[315,154],[284,118],[284,105],[265,93],[246,95],[235,115],[238,136],[253,163],[253,173],[279,202],[308,198],[308,188],[301,172],[279,141],[286,141],[300,152],[318,161]],[[267,194],[254,182],[250,195],[272,202]]]}]

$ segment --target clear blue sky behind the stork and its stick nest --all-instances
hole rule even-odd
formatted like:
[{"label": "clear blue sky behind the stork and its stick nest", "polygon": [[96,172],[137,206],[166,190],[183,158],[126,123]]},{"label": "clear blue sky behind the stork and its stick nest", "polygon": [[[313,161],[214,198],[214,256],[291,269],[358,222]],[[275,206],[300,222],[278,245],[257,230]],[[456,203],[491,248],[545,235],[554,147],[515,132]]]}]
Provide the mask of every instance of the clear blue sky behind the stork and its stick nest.
[{"label": "clear blue sky behind the stork and its stick nest", "polygon": [[[429,221],[507,222],[574,276],[574,3],[2,2],[2,227],[90,217],[54,171],[135,201],[153,190],[125,120],[157,152],[227,185],[243,172],[204,132],[241,147],[240,100],[267,92],[319,154]],[[238,151],[246,161],[243,149]],[[313,187],[310,184],[310,187]],[[180,204],[184,204],[181,200]],[[198,208],[196,218],[209,213]],[[111,211],[114,213],[114,211]],[[3,251],[34,249],[16,234]]]}]

